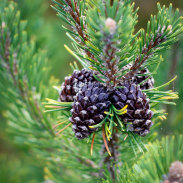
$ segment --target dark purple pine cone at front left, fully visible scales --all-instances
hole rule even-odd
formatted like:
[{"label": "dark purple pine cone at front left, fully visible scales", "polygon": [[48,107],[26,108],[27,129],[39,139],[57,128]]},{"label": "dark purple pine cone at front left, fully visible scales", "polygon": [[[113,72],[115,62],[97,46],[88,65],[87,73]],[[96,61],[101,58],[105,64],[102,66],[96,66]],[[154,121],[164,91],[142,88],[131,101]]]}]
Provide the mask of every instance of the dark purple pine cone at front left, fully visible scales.
[{"label": "dark purple pine cone at front left, fully visible scales", "polygon": [[105,111],[109,111],[110,92],[99,82],[88,83],[76,95],[70,118],[72,129],[78,139],[87,138],[97,129],[89,126],[100,123]]}]

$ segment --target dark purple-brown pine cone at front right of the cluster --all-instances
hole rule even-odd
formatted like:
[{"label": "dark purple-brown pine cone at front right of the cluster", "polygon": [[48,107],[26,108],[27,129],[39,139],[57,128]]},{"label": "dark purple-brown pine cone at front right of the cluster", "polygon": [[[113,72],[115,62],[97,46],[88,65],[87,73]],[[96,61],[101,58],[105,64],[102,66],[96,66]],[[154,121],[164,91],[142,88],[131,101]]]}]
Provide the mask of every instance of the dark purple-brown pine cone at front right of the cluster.
[{"label": "dark purple-brown pine cone at front right of the cluster", "polygon": [[127,125],[132,123],[128,127],[130,131],[145,136],[153,124],[149,100],[136,84],[125,83],[122,86],[113,92],[112,103],[119,110],[128,105],[127,113],[121,116],[121,120]]}]

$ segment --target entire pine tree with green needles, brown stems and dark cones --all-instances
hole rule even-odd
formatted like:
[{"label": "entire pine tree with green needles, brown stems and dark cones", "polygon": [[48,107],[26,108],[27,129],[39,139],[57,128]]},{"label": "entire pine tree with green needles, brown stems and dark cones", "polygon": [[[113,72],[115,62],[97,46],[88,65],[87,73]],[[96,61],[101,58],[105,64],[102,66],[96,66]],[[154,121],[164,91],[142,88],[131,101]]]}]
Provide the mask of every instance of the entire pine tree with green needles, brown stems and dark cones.
[{"label": "entire pine tree with green needles, brown stems and dark cones", "polygon": [[60,87],[45,51],[29,39],[16,3],[4,1],[2,7],[1,108],[15,142],[44,162],[45,181],[170,178],[171,163],[183,161],[183,138],[159,140],[157,131],[166,118],[161,105],[178,99],[167,90],[176,77],[157,85],[155,75],[162,55],[182,36],[178,10],[158,3],[147,30],[135,32],[138,10],[130,0],[53,0],[72,42],[73,50],[65,48],[78,61]]}]

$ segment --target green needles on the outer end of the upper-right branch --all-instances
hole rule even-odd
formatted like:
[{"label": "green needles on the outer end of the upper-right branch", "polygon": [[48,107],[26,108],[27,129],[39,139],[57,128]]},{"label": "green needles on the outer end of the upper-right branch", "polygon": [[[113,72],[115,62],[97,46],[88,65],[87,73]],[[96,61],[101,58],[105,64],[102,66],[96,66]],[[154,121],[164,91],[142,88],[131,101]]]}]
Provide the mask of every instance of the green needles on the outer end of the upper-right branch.
[{"label": "green needles on the outer end of the upper-right branch", "polygon": [[[178,9],[174,13],[172,11],[172,4],[166,8],[165,6],[161,7],[158,3],[157,7],[157,16],[151,16],[147,24],[147,33],[145,34],[145,31],[142,30],[141,37],[139,38],[138,54],[140,54],[140,60],[143,62],[146,50],[148,51],[147,55],[151,56],[151,58],[147,60],[147,65],[157,64],[159,60],[157,55],[167,50],[170,45],[175,43],[178,40],[178,36],[182,34],[183,31],[182,17],[179,17]],[[157,45],[153,47],[153,43],[155,44],[156,42]]]}]

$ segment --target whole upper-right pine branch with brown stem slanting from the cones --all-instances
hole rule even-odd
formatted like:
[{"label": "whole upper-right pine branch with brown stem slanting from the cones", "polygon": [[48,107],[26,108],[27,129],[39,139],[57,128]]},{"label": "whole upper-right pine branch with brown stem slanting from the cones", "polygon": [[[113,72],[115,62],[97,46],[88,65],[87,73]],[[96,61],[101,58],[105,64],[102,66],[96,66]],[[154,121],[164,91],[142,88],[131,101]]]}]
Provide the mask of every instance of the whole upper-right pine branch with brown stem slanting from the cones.
[{"label": "whole upper-right pine branch with brown stem slanting from the cones", "polygon": [[173,13],[172,4],[168,8],[161,7],[159,3],[157,6],[158,15],[151,16],[151,20],[147,24],[146,34],[144,30],[141,30],[141,37],[138,39],[140,53],[133,62],[130,72],[123,76],[123,80],[132,78],[138,69],[145,67],[153,57],[178,41],[183,33],[182,17],[178,17],[179,11],[176,10]]}]

